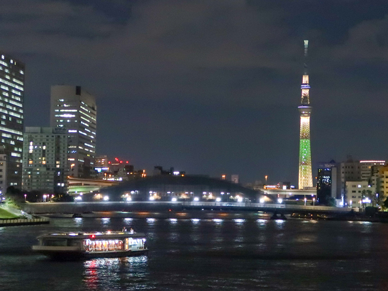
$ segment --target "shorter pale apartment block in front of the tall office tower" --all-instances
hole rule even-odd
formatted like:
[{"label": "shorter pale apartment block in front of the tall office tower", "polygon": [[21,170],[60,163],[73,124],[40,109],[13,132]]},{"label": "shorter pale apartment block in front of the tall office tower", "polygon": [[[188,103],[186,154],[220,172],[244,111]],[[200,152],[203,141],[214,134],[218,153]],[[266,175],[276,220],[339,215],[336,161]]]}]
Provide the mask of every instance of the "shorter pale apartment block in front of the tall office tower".
[{"label": "shorter pale apartment block in front of the tall office tower", "polygon": [[66,131],[63,128],[26,128],[23,142],[23,190],[66,193]]}]

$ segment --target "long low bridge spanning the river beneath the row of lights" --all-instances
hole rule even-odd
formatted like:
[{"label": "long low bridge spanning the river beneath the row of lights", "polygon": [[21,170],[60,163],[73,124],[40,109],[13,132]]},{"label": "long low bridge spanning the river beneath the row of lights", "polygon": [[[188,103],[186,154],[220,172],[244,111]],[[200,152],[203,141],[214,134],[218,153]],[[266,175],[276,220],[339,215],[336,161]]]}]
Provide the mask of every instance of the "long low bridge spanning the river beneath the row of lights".
[{"label": "long low bridge spanning the river beneath the row of lights", "polygon": [[182,211],[182,210],[222,210],[222,211],[263,211],[279,214],[325,213],[340,214],[358,208],[327,206],[304,206],[292,204],[269,204],[251,202],[194,202],[194,201],[106,201],[106,202],[39,202],[26,203],[23,210],[29,213],[82,213],[103,211]]}]

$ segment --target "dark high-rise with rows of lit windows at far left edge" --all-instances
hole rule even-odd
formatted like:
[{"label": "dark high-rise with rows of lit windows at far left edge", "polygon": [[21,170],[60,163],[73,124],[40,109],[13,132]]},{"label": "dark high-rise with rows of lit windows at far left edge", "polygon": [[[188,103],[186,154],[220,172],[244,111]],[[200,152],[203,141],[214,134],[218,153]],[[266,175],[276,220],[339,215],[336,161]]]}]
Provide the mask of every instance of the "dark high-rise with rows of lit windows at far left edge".
[{"label": "dark high-rise with rows of lit windows at far left edge", "polygon": [[21,188],[24,64],[0,52],[0,154],[3,155],[2,192],[8,186]]}]

